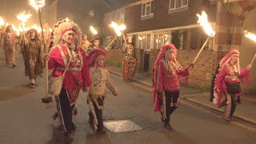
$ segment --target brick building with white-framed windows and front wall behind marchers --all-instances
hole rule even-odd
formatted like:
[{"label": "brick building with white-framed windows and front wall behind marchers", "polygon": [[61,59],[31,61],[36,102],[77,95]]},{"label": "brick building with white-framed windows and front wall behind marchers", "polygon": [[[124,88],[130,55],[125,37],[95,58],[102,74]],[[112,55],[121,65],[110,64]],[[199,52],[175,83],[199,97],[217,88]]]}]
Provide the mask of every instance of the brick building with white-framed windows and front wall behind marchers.
[{"label": "brick building with white-framed windows and front wall behind marchers", "polygon": [[[205,10],[216,35],[210,38],[196,62],[190,86],[209,89],[216,66],[226,52],[240,50],[242,68],[253,58],[255,43],[244,37],[243,30],[256,32],[255,4],[256,0],[133,0],[104,15],[104,44],[107,46],[114,38],[110,22],[125,23],[126,35],[134,36],[140,71],[151,70],[159,48],[166,43],[174,43],[178,48],[178,61],[187,66],[207,38],[196,17]],[[122,54],[120,50],[113,52]],[[109,56],[108,59],[113,58]],[[254,82],[243,87],[245,93],[256,92],[255,63],[251,70]]]}]

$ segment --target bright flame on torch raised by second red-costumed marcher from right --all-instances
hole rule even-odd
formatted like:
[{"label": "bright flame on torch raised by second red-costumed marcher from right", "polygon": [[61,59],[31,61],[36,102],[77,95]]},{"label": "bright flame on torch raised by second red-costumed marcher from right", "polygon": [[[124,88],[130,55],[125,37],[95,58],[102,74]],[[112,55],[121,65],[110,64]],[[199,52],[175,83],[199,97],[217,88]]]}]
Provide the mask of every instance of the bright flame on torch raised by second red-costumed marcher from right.
[{"label": "bright flame on torch raised by second red-costumed marcher from right", "polygon": [[208,22],[207,14],[205,11],[202,11],[202,15],[197,14],[198,16],[198,23],[200,23],[200,26],[203,27],[203,29],[206,31],[206,34],[210,37],[214,37],[215,31],[213,30],[212,26],[210,26],[210,23]]}]

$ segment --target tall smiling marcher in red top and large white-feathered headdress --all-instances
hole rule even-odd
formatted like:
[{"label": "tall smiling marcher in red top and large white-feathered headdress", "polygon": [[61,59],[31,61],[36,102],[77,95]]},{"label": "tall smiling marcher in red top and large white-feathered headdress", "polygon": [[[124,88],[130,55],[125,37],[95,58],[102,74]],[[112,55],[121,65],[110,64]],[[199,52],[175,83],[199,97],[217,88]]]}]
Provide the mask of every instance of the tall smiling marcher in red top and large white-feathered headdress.
[{"label": "tall smiling marcher in red top and large white-feathered headdress", "polygon": [[[62,90],[58,97],[55,97],[59,122],[62,124],[62,131],[70,135],[75,130],[72,122],[72,112],[77,101],[79,91],[89,90],[90,71],[86,60],[85,52],[78,47],[81,38],[81,30],[74,22],[63,20],[55,25],[53,33],[54,48],[49,56],[49,69],[53,69],[52,77],[62,76],[66,66],[66,74],[63,79]],[[52,46],[50,46],[52,47]]]}]

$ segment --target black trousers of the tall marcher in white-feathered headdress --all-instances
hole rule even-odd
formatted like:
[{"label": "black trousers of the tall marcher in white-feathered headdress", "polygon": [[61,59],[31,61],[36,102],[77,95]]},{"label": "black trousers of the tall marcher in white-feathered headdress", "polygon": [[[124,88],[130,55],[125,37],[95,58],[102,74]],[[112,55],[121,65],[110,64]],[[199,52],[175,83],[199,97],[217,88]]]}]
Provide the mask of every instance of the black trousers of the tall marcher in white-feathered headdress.
[{"label": "black trousers of the tall marcher in white-feathered headdress", "polygon": [[[61,94],[59,94],[59,103],[60,103],[60,110],[61,114],[59,113],[58,115],[60,116],[60,122],[62,123],[62,126],[64,128],[64,131],[66,134],[70,133],[73,127],[73,122],[72,122],[72,110],[74,108],[73,106],[70,106],[70,101],[69,98],[66,94],[66,90],[62,90]],[[63,121],[62,121],[63,118]]]}]

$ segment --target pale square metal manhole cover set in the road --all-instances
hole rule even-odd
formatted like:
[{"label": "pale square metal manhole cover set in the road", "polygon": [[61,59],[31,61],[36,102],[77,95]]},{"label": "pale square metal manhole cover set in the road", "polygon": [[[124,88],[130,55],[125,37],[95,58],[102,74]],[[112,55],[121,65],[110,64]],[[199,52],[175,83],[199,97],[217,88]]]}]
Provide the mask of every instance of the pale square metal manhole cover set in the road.
[{"label": "pale square metal manhole cover set in the road", "polygon": [[104,121],[103,125],[107,130],[112,133],[124,133],[129,131],[143,130],[141,126],[132,122],[130,119],[127,120],[108,120]]}]

